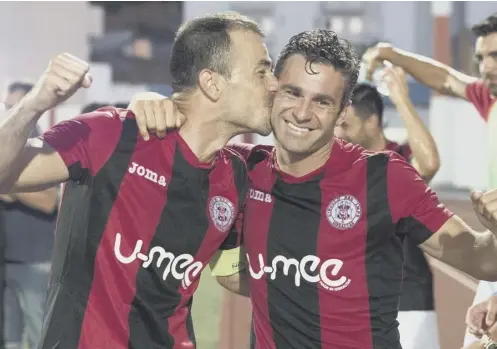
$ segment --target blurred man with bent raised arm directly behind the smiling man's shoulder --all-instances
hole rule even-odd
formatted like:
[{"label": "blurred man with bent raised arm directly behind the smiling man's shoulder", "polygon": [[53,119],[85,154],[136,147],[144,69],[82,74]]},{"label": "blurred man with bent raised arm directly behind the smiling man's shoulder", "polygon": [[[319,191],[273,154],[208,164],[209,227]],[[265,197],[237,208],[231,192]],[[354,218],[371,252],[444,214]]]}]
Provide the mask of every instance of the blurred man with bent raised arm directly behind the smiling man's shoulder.
[{"label": "blurred man with bent raised arm directly behind the smiling man's shoulder", "polygon": [[[407,80],[401,68],[386,69],[389,97],[407,129],[407,143],[388,140],[383,130],[383,99],[369,84],[359,84],[352,96],[345,120],[335,135],[373,151],[391,150],[406,159],[429,181],[440,167],[435,140],[409,98]],[[433,298],[433,275],[424,255],[409,236],[404,239],[404,269],[400,294],[400,341],[404,349],[438,349],[438,327]]]}]

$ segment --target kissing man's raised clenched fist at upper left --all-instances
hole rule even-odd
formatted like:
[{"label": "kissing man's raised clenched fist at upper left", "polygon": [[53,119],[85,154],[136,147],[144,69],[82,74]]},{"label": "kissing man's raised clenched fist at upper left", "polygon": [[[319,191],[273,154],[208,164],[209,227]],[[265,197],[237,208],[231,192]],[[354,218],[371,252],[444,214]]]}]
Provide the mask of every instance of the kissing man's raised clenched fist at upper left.
[{"label": "kissing man's raised clenched fist at upper left", "polygon": [[32,110],[44,112],[91,85],[90,66],[68,53],[55,56],[31,92],[25,97]]}]

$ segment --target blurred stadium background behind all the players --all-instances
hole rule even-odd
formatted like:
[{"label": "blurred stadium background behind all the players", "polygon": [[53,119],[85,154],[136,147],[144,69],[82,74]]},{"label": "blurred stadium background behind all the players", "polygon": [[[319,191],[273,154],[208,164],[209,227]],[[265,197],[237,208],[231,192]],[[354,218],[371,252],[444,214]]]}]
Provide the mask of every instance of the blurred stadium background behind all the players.
[{"label": "blurred stadium background behind all the players", "polygon": [[[299,31],[328,27],[361,51],[377,41],[432,56],[466,73],[474,72],[469,28],[495,11],[493,2],[0,2],[0,82],[33,80],[49,59],[69,52],[92,62],[93,86],[41,119],[46,129],[91,102],[127,102],[135,92],[169,94],[168,56],[182,21],[235,10],[268,32],[273,59]],[[442,167],[433,186],[444,202],[474,227],[468,189],[484,189],[484,123],[469,104],[436,96],[414,81],[411,98],[437,141]],[[388,104],[388,100],[386,100]],[[405,139],[388,104],[387,135]],[[272,136],[239,141],[272,143]],[[442,349],[459,348],[464,314],[476,281],[439,262],[432,263]],[[208,273],[194,301],[199,349],[248,348],[250,304],[221,290]]]}]

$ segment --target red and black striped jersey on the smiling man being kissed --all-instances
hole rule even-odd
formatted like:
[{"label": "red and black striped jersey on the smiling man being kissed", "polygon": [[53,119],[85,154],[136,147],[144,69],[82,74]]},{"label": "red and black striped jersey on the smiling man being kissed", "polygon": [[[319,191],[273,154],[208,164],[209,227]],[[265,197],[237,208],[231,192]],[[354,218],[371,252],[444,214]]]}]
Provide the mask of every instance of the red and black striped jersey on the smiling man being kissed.
[{"label": "red and black striped jersey on the smiling man being kissed", "polygon": [[296,178],[275,149],[247,159],[243,217],[257,349],[400,349],[402,242],[420,244],[451,213],[393,152],[336,139],[327,163]]}]

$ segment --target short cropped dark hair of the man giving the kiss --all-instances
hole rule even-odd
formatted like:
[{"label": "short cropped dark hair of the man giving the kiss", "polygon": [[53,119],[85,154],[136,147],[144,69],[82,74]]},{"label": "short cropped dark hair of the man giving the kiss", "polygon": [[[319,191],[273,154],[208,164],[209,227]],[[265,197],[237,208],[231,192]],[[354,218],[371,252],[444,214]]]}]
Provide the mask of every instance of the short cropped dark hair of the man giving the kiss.
[{"label": "short cropped dark hair of the man giving the kiss", "polygon": [[264,37],[259,25],[237,12],[223,12],[195,18],[183,24],[174,39],[169,70],[174,92],[197,85],[202,69],[231,77],[229,33],[252,31]]}]

